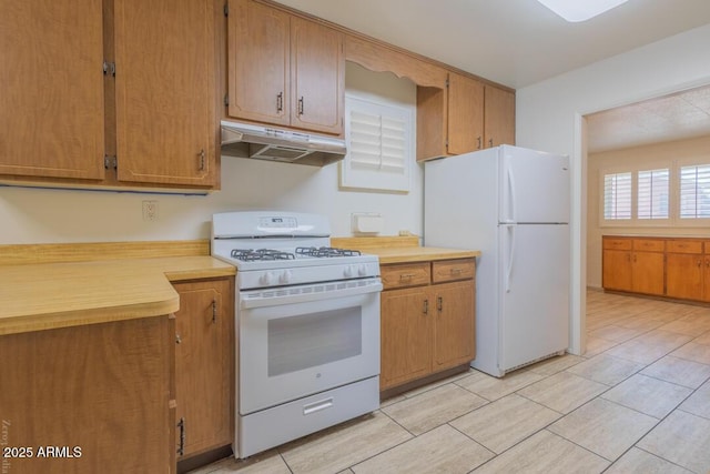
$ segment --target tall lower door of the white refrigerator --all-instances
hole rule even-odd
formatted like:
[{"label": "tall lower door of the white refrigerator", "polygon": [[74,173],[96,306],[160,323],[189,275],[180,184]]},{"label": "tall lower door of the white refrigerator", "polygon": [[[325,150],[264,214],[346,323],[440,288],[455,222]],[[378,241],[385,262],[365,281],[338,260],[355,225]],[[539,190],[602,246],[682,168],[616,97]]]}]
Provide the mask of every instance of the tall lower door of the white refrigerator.
[{"label": "tall lower door of the white refrigerator", "polygon": [[501,224],[499,367],[569,345],[569,225]]}]

